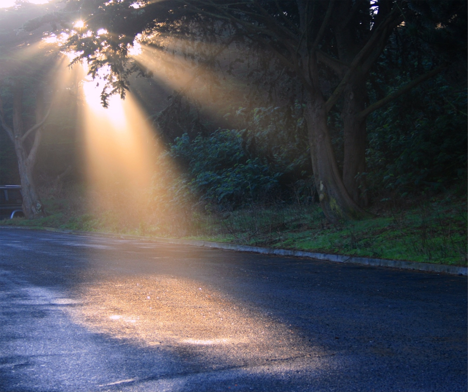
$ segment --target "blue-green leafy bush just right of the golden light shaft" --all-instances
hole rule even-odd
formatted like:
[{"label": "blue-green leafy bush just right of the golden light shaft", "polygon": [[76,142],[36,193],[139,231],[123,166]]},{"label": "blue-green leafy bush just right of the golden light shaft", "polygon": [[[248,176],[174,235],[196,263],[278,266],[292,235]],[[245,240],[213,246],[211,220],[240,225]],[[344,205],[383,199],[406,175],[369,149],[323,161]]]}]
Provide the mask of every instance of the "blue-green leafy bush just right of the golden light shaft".
[{"label": "blue-green leafy bush just right of the golden light shaft", "polygon": [[184,134],[176,138],[169,155],[186,166],[179,186],[203,203],[235,207],[256,202],[274,192],[281,175],[260,158],[248,158],[236,130],[218,130],[193,140]]}]

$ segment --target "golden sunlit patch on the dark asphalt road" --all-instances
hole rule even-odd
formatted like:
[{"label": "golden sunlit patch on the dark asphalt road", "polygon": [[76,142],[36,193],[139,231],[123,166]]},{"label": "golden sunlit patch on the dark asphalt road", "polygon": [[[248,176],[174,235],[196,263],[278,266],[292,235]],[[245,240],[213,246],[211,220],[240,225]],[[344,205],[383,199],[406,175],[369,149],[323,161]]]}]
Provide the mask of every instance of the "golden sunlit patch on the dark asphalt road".
[{"label": "golden sunlit patch on the dark asphalt road", "polygon": [[114,279],[82,286],[80,302],[69,311],[95,332],[175,348],[188,357],[203,353],[204,361],[265,362],[308,357],[313,351],[284,324],[188,279]]}]

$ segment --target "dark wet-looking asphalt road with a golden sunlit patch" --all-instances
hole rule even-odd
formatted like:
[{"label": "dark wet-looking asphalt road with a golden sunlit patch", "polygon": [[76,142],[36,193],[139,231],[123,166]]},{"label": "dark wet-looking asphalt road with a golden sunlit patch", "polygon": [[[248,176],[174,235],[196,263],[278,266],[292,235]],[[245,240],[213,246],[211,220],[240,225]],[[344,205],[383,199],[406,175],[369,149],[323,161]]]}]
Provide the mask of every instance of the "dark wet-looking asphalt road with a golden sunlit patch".
[{"label": "dark wet-looking asphalt road with a golden sunlit patch", "polygon": [[467,278],[1,228],[1,391],[466,391]]}]

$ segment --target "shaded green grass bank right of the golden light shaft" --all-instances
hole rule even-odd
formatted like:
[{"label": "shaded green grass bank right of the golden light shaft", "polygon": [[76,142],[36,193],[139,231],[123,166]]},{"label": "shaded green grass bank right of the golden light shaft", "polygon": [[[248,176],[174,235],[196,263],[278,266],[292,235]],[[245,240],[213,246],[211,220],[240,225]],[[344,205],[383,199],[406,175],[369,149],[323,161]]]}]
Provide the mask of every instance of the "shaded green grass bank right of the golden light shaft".
[{"label": "shaded green grass bank right of the golden light shaft", "polygon": [[[467,265],[465,203],[424,203],[330,225],[317,206],[236,211],[206,240],[393,260]],[[196,238],[196,237],[192,237]]]}]

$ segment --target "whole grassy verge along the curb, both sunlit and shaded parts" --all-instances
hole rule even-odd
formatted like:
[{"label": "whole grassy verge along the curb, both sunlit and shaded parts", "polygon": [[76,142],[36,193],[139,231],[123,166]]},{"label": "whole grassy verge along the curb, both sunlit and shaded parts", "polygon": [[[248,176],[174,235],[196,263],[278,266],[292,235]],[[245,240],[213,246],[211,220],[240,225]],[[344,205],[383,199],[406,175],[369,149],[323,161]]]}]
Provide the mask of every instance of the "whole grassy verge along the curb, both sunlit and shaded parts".
[{"label": "whole grassy verge along the curb, both sunlit and shaded parts", "polygon": [[[318,205],[252,206],[205,215],[122,223],[119,214],[73,214],[66,201],[48,200],[51,215],[4,220],[2,225],[117,232],[295,249],[393,260],[467,265],[467,204],[464,200],[425,200],[413,208],[380,205],[376,218],[329,224]],[[177,223],[179,222],[179,223]]]}]

